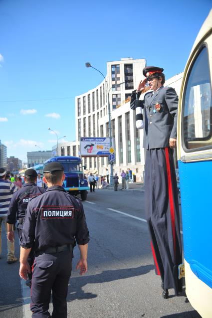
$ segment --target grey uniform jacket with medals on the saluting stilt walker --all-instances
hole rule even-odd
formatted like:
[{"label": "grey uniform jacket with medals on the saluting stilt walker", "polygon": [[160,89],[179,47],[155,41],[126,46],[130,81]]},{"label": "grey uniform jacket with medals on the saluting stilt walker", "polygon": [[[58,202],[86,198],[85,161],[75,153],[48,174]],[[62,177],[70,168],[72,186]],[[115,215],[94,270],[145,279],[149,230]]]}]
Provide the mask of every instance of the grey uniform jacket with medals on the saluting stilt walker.
[{"label": "grey uniform jacket with medals on the saluting stilt walker", "polygon": [[[139,93],[139,96],[141,93]],[[136,91],[130,107],[135,109]],[[144,141],[146,149],[169,147],[170,138],[177,139],[178,95],[174,88],[161,86],[156,92],[147,92],[142,101]]]}]

